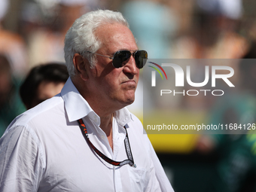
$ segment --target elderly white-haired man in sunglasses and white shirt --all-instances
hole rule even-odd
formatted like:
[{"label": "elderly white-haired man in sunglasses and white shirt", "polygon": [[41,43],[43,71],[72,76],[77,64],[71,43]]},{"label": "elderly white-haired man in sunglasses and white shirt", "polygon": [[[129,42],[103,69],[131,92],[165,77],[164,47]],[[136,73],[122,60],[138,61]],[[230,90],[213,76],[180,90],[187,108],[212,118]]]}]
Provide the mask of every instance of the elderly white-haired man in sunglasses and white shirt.
[{"label": "elderly white-haired man in sunglasses and white shirt", "polygon": [[0,139],[0,191],[173,191],[142,123],[124,108],[147,59],[126,20],[85,14],[64,50],[70,78],[61,93]]}]

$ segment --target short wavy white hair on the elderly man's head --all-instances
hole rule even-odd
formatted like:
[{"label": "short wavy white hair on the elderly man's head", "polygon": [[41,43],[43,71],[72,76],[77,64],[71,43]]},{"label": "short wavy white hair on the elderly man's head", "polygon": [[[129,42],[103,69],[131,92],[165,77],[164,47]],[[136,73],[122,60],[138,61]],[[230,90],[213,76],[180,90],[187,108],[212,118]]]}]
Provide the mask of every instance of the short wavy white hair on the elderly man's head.
[{"label": "short wavy white hair on the elderly man's head", "polygon": [[75,75],[75,66],[73,65],[75,53],[79,53],[87,58],[91,68],[95,66],[95,56],[87,51],[95,53],[99,50],[101,42],[94,33],[99,26],[108,23],[120,23],[123,26],[129,27],[129,24],[120,12],[98,10],[88,12],[79,17],[66,33],[64,53],[66,66],[71,77]]}]

